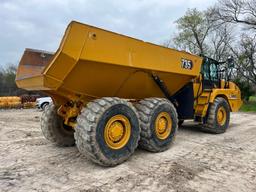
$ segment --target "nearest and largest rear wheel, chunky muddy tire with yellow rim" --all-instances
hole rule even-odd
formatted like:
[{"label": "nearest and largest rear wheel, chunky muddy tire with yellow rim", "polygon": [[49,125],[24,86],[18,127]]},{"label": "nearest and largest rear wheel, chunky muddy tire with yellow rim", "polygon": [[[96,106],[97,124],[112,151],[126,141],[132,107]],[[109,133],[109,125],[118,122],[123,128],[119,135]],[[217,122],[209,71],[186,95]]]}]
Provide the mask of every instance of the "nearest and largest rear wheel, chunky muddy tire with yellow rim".
[{"label": "nearest and largest rear wheel, chunky muddy tire with yellow rim", "polygon": [[120,98],[94,100],[77,118],[78,150],[102,166],[115,166],[127,160],[137,148],[139,138],[136,109]]}]

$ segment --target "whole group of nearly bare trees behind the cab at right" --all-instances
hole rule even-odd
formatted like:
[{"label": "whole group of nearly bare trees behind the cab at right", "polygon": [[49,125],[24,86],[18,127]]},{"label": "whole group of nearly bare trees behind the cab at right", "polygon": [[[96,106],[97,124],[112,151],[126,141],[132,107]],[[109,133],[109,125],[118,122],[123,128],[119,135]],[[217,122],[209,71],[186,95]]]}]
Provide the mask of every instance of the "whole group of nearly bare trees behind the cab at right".
[{"label": "whole group of nearly bare trees behind the cab at right", "polygon": [[245,100],[256,87],[256,1],[219,0],[207,10],[188,9],[165,46],[217,61],[235,59],[233,80]]}]

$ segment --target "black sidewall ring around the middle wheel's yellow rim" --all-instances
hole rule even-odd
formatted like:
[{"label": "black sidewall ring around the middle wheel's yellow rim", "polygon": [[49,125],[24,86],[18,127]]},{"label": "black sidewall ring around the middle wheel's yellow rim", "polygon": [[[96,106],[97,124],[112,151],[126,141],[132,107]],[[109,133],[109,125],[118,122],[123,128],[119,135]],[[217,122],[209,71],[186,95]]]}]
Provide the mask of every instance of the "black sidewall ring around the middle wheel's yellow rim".
[{"label": "black sidewall ring around the middle wheel's yellow rim", "polygon": [[[164,140],[159,139],[157,137],[157,135],[156,135],[156,132],[155,132],[155,121],[156,121],[157,116],[161,112],[167,112],[170,115],[170,118],[172,120],[172,130],[171,130],[171,133]],[[161,104],[161,105],[159,105],[157,108],[155,108],[153,110],[152,118],[150,120],[150,130],[151,130],[152,140],[154,141],[155,145],[158,148],[167,147],[170,143],[172,143],[172,141],[174,140],[174,137],[176,135],[177,124],[178,124],[178,122],[177,122],[177,118],[175,118],[175,112],[172,110],[172,107],[169,106],[168,104]]]}]

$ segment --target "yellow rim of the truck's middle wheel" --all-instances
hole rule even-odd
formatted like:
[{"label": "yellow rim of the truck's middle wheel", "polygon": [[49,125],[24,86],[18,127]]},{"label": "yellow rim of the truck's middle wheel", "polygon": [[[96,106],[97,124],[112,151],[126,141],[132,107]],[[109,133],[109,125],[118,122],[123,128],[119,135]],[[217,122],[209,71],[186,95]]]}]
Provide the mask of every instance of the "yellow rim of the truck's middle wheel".
[{"label": "yellow rim of the truck's middle wheel", "polygon": [[155,121],[155,132],[157,138],[164,140],[172,131],[172,119],[167,112],[161,112]]}]

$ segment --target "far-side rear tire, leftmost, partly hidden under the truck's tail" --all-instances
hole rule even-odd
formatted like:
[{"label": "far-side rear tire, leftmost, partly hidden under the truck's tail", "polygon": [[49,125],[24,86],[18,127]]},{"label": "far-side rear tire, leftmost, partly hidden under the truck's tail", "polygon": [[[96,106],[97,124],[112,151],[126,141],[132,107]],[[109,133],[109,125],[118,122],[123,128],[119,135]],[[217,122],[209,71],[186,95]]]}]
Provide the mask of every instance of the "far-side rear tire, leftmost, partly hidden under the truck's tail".
[{"label": "far-side rear tire, leftmost, partly hidden under the truck's tail", "polygon": [[72,146],[75,144],[74,130],[65,125],[57,114],[57,107],[49,104],[41,116],[41,129],[44,137],[58,146]]}]

